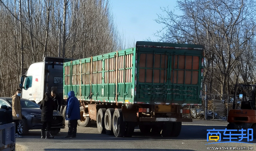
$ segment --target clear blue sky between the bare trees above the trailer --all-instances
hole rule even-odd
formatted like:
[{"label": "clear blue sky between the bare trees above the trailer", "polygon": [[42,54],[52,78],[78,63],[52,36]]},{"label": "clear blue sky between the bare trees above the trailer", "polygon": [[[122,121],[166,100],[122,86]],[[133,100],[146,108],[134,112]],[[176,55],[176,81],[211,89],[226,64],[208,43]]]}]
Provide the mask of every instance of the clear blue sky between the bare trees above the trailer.
[{"label": "clear blue sky between the bare trees above the trailer", "polygon": [[124,35],[126,44],[143,41],[150,38],[157,41],[154,33],[164,27],[158,24],[157,14],[166,15],[160,7],[167,7],[175,10],[175,14],[180,11],[175,9],[176,0],[110,0],[112,14],[117,28]]}]

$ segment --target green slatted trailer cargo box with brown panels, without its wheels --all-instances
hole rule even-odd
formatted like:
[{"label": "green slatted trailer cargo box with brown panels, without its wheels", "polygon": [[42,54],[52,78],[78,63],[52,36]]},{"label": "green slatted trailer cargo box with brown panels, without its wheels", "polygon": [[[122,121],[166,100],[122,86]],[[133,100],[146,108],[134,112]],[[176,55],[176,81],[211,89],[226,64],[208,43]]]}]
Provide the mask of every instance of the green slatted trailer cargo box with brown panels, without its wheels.
[{"label": "green slatted trailer cargo box with brown panels, without its wheels", "polygon": [[73,90],[88,101],[201,104],[203,46],[137,42],[135,48],[64,63],[63,72],[64,98]]}]

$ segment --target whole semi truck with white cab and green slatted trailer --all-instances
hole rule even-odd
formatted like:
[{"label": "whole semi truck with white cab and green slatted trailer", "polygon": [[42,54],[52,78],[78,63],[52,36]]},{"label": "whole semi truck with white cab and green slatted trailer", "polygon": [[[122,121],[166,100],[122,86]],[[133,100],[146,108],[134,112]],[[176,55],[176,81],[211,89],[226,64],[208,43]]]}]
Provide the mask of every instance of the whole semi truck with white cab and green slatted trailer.
[{"label": "whole semi truck with white cab and green slatted trailer", "polygon": [[183,116],[188,106],[201,105],[203,64],[203,45],[143,41],[89,58],[48,57],[21,77],[21,97],[37,103],[55,88],[66,100],[72,90],[82,127],[94,121],[99,133],[116,137],[131,137],[136,126],[177,137],[182,122],[192,122]]}]

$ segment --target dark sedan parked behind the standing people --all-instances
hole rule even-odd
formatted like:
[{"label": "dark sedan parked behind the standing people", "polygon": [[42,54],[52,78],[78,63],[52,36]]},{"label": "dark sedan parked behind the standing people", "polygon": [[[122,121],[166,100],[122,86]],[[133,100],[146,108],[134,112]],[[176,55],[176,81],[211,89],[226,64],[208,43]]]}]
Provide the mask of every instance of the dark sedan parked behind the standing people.
[{"label": "dark sedan parked behind the standing people", "polygon": [[[28,130],[41,129],[41,109],[40,106],[30,100],[21,98],[22,120],[18,124],[18,134],[26,135]],[[12,98],[0,98],[0,125],[13,122],[12,120]],[[59,111],[53,111],[53,122],[51,134],[56,135],[60,129],[65,128],[65,118]]]}]

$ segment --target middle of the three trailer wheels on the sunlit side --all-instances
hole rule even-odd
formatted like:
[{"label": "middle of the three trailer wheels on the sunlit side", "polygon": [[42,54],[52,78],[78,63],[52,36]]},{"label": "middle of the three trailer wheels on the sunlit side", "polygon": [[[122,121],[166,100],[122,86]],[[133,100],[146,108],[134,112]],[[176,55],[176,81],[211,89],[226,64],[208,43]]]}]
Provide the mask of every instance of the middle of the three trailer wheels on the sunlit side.
[{"label": "middle of the three trailer wheels on the sunlit side", "polygon": [[104,117],[105,131],[107,135],[114,135],[112,127],[112,118],[115,109],[107,109]]}]

